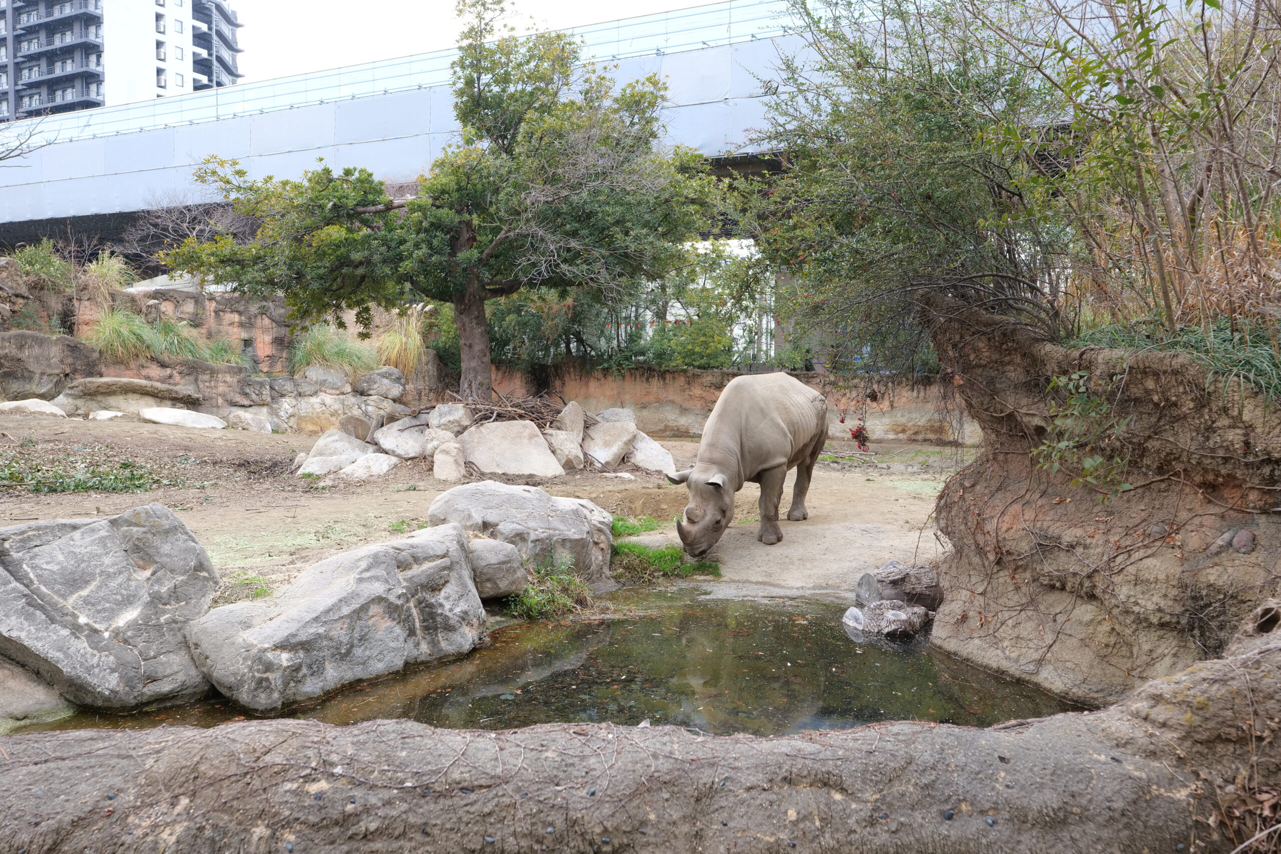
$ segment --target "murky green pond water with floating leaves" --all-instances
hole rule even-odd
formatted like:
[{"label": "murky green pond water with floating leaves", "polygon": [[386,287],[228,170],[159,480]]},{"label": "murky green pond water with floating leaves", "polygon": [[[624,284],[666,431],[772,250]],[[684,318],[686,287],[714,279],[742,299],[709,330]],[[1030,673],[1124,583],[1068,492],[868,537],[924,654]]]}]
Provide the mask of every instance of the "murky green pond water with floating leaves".
[{"label": "murky green pond water with floating leaves", "polygon": [[[930,649],[856,643],[845,606],[621,590],[620,618],[523,624],[460,661],[356,685],[288,717],[329,723],[409,717],[442,727],[552,721],[676,723],[775,735],[885,720],[988,726],[1068,704]],[[247,714],[227,700],[132,717],[82,713],[35,729],[213,726]]]}]

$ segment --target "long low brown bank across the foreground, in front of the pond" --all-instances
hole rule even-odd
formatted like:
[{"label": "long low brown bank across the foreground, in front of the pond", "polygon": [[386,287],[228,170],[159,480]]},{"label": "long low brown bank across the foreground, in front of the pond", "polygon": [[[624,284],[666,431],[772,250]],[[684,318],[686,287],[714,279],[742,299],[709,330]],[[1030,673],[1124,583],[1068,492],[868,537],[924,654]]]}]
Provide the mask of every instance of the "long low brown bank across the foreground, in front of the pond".
[{"label": "long low brown bank across the foreground, in front of the pond", "polygon": [[[1281,606],[1281,603],[1273,603]],[[1276,611],[1098,713],[787,737],[375,721],[0,737],[0,845],[51,851],[1228,851],[1276,780]],[[1245,772],[1245,773],[1243,773]],[[546,849],[544,849],[546,846]],[[1182,848],[1180,848],[1182,846]]]}]

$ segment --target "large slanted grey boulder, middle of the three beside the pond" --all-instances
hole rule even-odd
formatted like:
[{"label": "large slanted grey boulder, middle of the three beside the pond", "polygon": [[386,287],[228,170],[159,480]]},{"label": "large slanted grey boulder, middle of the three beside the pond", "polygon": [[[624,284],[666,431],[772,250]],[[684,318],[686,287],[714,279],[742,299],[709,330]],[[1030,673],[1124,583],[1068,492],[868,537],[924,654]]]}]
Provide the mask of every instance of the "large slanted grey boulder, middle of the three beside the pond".
[{"label": "large slanted grey boulder, middle of the three beside the pond", "polygon": [[241,705],[278,709],[484,639],[459,525],[343,552],[284,590],[214,608],[188,626],[209,680]]}]

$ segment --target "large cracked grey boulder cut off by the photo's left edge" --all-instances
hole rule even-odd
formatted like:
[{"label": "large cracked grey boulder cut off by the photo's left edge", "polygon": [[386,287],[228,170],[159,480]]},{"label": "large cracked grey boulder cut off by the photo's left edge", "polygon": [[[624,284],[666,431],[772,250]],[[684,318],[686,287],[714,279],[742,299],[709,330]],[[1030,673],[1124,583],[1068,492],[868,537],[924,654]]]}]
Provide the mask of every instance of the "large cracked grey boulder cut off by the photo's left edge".
[{"label": "large cracked grey boulder cut off by the photo's left edge", "polygon": [[208,684],[187,622],[218,589],[209,556],[164,504],[0,529],[0,654],[79,705],[179,703]]}]

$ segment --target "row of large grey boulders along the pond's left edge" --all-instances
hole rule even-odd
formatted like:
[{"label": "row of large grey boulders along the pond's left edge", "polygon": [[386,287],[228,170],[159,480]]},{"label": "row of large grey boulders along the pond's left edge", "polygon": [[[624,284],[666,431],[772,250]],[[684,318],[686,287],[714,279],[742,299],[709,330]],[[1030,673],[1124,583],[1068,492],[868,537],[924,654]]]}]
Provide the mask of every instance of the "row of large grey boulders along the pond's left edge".
[{"label": "row of large grey boulders along the pond's left edge", "polygon": [[588,501],[482,483],[446,492],[430,515],[430,528],[213,609],[218,574],[163,504],[0,529],[0,732],[68,703],[127,712],[210,685],[278,709],[470,652],[485,638],[482,599],[524,590],[532,562],[608,577],[611,517]]}]

